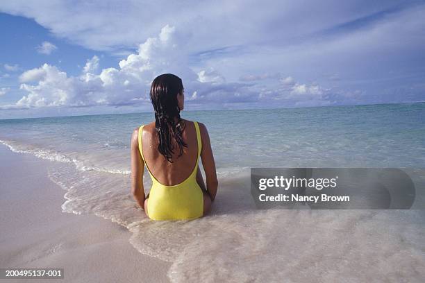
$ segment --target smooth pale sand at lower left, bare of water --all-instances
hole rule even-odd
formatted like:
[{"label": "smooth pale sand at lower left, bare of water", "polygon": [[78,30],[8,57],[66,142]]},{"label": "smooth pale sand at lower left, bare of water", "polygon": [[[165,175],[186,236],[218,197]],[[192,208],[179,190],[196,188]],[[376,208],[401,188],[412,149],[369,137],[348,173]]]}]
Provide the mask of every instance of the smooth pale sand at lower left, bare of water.
[{"label": "smooth pale sand at lower left, bare of water", "polygon": [[52,283],[169,281],[170,264],[135,250],[125,228],[63,213],[65,191],[47,177],[47,165],[0,145],[1,268],[64,268],[65,279]]}]

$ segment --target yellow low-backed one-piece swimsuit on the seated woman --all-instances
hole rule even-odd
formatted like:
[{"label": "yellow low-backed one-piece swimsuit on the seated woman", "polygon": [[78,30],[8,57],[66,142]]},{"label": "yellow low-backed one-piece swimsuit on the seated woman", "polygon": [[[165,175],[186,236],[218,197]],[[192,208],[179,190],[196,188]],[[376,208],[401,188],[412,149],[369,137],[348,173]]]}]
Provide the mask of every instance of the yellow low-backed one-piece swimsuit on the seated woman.
[{"label": "yellow low-backed one-piece swimsuit on the seated woman", "polygon": [[152,187],[148,198],[148,214],[153,220],[183,220],[199,218],[203,214],[203,192],[197,183],[199,155],[201,155],[201,134],[197,122],[198,155],[197,162],[189,177],[178,185],[165,186],[153,177],[142,152],[142,130],[139,128],[139,151],[142,160],[151,175]]}]

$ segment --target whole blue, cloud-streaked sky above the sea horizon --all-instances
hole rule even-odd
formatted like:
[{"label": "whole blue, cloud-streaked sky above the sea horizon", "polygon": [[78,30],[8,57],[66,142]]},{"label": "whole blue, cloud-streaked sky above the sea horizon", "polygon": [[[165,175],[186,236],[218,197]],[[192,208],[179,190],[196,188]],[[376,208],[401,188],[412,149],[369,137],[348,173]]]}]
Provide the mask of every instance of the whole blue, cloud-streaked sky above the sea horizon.
[{"label": "whole blue, cloud-streaked sky above the sea horizon", "polygon": [[1,1],[0,119],[425,101],[425,1]]}]

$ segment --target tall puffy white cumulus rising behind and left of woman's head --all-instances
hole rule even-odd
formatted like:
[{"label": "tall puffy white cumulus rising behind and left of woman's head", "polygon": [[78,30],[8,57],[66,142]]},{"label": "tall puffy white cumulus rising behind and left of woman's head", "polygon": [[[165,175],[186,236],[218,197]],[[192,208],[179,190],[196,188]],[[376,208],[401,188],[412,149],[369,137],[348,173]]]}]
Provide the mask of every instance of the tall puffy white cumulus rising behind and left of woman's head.
[{"label": "tall puffy white cumulus rising behind and left of woman's head", "polygon": [[3,108],[51,106],[128,105],[148,102],[151,80],[158,74],[174,72],[190,80],[196,74],[185,64],[179,51],[181,38],[172,26],[164,26],[157,37],[140,44],[138,52],[119,62],[118,68],[102,69],[99,58],[87,60],[80,76],[68,76],[58,67],[44,64],[20,77],[24,95],[15,105]]}]

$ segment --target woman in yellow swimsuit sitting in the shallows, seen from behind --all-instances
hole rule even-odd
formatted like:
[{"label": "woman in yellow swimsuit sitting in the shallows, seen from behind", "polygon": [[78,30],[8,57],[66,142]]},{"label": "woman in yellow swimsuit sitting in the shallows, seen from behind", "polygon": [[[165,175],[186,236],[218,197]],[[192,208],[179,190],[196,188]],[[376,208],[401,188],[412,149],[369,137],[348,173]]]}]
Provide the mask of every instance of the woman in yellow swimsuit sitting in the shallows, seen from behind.
[{"label": "woman in yellow swimsuit sitting in the shallows, seen from behind", "polygon": [[[203,123],[182,119],[185,95],[181,78],[163,74],[151,85],[155,122],[136,128],[131,137],[131,190],[153,220],[193,219],[206,215],[217,193],[210,137]],[[198,160],[201,156],[206,187]],[[143,171],[152,179],[144,196]]]}]

